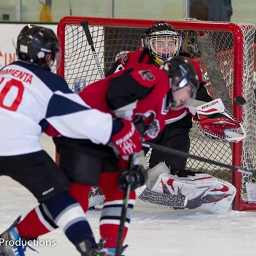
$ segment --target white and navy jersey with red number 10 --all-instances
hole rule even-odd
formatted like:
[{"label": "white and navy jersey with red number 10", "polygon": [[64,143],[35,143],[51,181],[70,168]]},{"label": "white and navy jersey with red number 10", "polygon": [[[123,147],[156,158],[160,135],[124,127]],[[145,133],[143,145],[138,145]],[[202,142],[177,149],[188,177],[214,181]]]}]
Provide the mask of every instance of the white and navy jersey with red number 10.
[{"label": "white and navy jersey with red number 10", "polygon": [[40,135],[51,124],[63,136],[108,143],[110,114],[91,109],[65,80],[36,65],[15,61],[0,71],[0,156],[42,150]]}]

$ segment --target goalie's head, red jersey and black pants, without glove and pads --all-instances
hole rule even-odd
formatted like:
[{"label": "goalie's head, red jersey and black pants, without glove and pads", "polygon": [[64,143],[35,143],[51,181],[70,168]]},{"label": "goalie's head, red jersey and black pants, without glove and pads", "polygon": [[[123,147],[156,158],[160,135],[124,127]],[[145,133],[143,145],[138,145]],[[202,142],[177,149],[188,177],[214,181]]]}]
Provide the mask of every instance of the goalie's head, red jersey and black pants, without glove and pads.
[{"label": "goalie's head, red jersey and black pants, without glove and pads", "polygon": [[[145,34],[141,37],[141,43],[143,46],[142,50],[128,52],[124,57],[119,58],[106,75],[108,76],[109,74],[131,67],[131,65],[136,65],[137,63],[148,63],[154,66],[162,65],[164,60],[179,56],[182,37],[170,24],[157,22],[146,29]],[[204,102],[211,101],[212,98],[205,88],[206,82],[198,63],[189,58],[188,60],[191,61],[196,68],[200,81],[195,99]],[[189,129],[192,127],[191,119],[192,116],[188,108],[172,108],[166,115],[166,126],[164,130],[154,142],[164,147],[188,152],[190,146],[188,134]],[[185,158],[170,156],[163,154],[163,152],[152,150],[149,163],[150,168],[160,161],[164,161],[172,170],[179,170],[180,172],[182,172],[186,166]]]}]

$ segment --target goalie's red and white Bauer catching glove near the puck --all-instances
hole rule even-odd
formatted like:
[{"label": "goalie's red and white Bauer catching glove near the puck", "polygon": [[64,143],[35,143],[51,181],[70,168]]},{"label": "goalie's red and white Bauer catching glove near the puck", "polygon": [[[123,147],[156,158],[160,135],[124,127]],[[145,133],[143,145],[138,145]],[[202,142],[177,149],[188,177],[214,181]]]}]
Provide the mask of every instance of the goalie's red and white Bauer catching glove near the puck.
[{"label": "goalie's red and white Bauer catching glove near the puck", "polygon": [[246,136],[244,127],[225,109],[221,99],[196,108],[200,131],[215,140],[239,142]]}]

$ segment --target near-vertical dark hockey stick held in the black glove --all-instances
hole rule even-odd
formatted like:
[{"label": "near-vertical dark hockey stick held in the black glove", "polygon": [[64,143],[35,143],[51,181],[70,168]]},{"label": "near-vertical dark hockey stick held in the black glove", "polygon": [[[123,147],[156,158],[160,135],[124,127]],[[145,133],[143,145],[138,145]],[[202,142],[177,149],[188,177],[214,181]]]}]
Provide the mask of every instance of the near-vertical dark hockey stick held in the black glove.
[{"label": "near-vertical dark hockey stick held in the black glove", "polygon": [[[132,157],[133,157],[132,154],[129,155],[129,161],[128,161],[129,171],[132,170]],[[131,183],[129,182],[127,188],[124,191],[124,199],[122,202],[122,211],[121,211],[121,216],[120,216],[118,237],[117,237],[117,241],[116,241],[115,256],[121,256],[121,252],[122,252],[122,245],[123,245],[123,239],[124,239],[124,226],[125,226],[125,221],[126,221],[126,214],[127,214],[130,192],[131,192]]]}]

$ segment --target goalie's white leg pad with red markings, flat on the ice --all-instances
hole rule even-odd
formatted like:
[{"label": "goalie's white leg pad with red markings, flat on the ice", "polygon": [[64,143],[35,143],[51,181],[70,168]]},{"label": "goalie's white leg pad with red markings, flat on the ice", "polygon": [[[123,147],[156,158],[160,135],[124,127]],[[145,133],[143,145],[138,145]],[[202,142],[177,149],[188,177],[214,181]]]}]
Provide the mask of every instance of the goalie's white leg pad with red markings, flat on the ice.
[{"label": "goalie's white leg pad with red markings, flat on the ice", "polygon": [[202,209],[219,214],[228,211],[236,195],[236,188],[232,184],[205,173],[196,173],[187,178],[163,173],[151,190],[167,195],[187,196],[186,209]]}]

